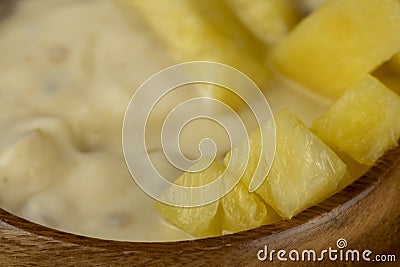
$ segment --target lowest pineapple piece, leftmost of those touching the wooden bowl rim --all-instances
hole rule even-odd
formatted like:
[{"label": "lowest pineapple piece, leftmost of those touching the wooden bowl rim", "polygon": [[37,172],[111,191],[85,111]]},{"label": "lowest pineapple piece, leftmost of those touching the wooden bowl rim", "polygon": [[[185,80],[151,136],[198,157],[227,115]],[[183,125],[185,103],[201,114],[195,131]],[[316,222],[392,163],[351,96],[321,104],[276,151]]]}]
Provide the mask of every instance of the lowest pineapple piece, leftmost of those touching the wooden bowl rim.
[{"label": "lowest pineapple piece, leftmost of those touching the wooden bowl rim", "polygon": [[[203,164],[203,162],[200,161],[192,168],[196,169],[199,164]],[[184,173],[175,181],[175,184],[193,187],[205,185],[220,177],[224,171],[225,167],[214,161],[201,172]],[[221,179],[236,179],[233,174],[225,173],[226,176]],[[174,191],[172,190],[167,190],[165,194],[177,197],[173,195]],[[241,182],[220,200],[204,206],[174,207],[157,202],[156,209],[172,224],[196,237],[210,237],[226,232],[242,231],[276,221],[279,218],[270,207],[266,207],[256,194],[249,193]]]}]

